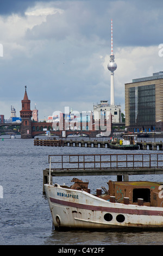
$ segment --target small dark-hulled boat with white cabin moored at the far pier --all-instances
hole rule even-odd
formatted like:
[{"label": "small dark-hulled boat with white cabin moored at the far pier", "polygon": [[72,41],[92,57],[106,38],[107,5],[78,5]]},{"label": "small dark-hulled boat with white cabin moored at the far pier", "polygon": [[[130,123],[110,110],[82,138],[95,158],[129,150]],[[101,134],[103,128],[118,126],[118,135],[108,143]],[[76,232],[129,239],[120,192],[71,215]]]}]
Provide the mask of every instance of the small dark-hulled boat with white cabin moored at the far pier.
[{"label": "small dark-hulled boat with white cabin moored at the far pier", "polygon": [[122,139],[118,139],[116,136],[113,136],[110,140],[109,148],[123,150],[139,149],[139,145],[137,145],[137,135],[126,134],[123,135]]}]

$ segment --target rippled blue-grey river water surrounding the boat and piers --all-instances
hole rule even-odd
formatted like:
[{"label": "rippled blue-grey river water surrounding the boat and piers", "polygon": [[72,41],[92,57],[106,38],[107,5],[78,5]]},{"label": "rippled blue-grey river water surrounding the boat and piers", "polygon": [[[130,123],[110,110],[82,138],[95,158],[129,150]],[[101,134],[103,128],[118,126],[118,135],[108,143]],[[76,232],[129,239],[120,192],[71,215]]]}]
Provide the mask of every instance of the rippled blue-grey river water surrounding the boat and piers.
[{"label": "rippled blue-grey river water surrounding the boat and piers", "polygon": [[[33,139],[0,136],[0,245],[162,245],[163,231],[55,231],[42,194],[42,170],[53,154],[124,154],[107,148],[37,147]],[[4,139],[2,139],[4,138]],[[152,151],[144,151],[152,153]],[[131,153],[131,152],[127,152]],[[143,153],[137,150],[136,153]],[[158,151],[160,153],[160,151]],[[73,177],[55,177],[72,185]],[[107,186],[116,176],[77,177]],[[133,175],[129,180],[163,181],[163,175]],[[91,187],[91,186],[89,186]]]}]

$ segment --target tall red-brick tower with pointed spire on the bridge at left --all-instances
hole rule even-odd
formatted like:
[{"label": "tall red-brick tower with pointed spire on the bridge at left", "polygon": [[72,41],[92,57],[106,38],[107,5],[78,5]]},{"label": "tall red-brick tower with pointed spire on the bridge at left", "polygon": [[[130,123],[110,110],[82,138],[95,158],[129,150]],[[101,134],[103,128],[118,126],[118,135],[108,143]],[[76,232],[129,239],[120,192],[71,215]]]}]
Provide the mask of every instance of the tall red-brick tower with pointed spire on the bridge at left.
[{"label": "tall red-brick tower with pointed spire on the bridge at left", "polygon": [[21,124],[21,138],[32,138],[31,118],[32,111],[30,110],[30,100],[27,95],[27,87],[25,86],[24,99],[22,100],[22,110],[20,111],[20,117],[22,118]]}]

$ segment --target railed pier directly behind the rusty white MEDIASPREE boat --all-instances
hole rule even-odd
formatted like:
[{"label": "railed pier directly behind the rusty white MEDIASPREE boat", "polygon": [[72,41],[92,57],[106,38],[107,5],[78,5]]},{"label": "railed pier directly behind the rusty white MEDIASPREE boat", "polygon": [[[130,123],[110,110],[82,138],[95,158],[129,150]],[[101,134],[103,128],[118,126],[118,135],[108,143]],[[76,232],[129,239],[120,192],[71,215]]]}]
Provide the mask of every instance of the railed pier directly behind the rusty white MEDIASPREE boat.
[{"label": "railed pier directly behind the rusty white MEDIASPREE boat", "polygon": [[43,170],[44,184],[53,176],[116,175],[128,181],[129,175],[163,174],[163,154],[49,155],[51,170]]}]

